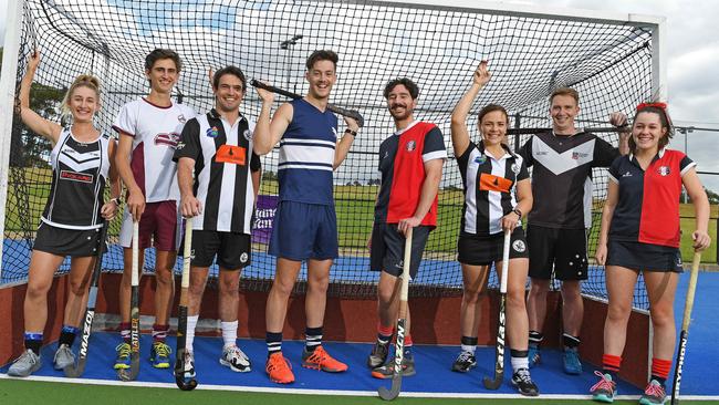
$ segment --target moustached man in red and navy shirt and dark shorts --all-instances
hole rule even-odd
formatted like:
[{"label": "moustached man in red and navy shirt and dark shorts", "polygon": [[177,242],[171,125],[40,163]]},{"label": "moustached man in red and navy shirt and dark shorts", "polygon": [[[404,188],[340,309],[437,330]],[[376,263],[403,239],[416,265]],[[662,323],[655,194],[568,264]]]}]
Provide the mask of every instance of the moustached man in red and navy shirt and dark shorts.
[{"label": "moustached man in red and navy shirt and dark shorts", "polygon": [[[377,343],[367,360],[377,378],[393,376],[394,362],[385,365],[385,361],[399,309],[405,235],[413,229],[409,274],[414,278],[429,231],[437,226],[437,190],[447,158],[439,128],[414,118],[418,95],[417,85],[406,77],[390,81],[384,91],[397,132],[379,145],[382,181],[369,239],[371,269],[382,271],[377,285]],[[409,376],[415,374],[409,309],[405,325],[403,375]]]}]

